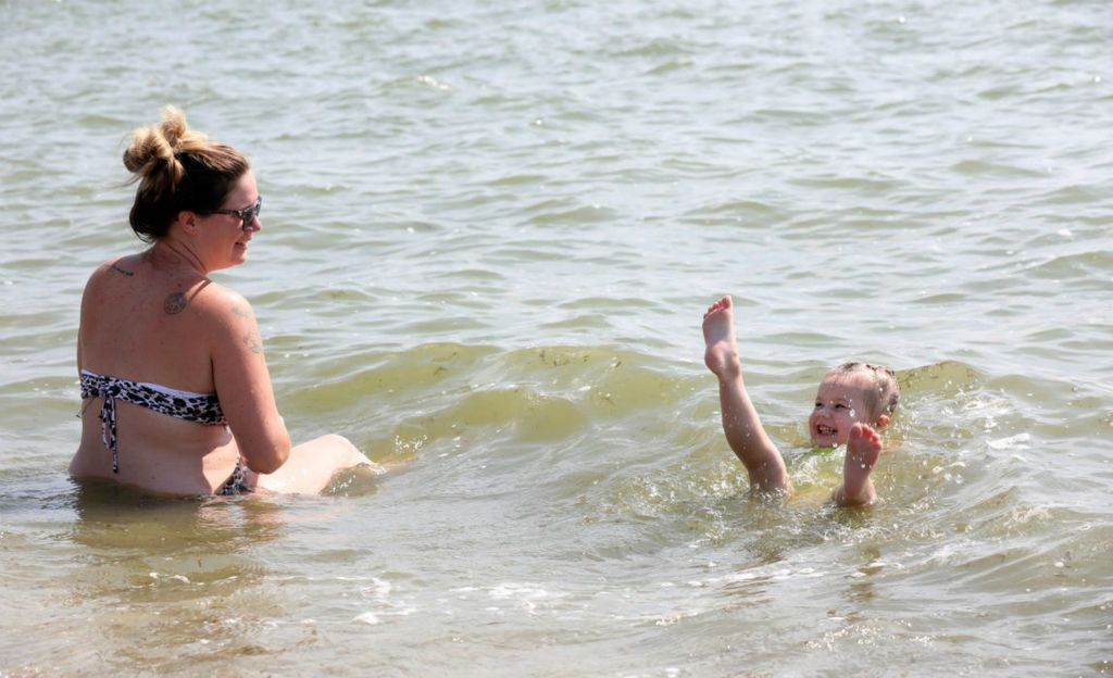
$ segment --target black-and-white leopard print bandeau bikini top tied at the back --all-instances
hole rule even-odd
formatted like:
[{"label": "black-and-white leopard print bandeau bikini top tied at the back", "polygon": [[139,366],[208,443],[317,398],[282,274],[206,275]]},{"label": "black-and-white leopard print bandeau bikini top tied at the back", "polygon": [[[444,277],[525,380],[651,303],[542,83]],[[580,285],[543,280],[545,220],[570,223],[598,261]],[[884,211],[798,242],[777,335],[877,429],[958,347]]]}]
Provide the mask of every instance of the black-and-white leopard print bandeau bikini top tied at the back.
[{"label": "black-and-white leopard print bandeau bikini top tied at the back", "polygon": [[100,440],[112,451],[112,473],[120,472],[119,449],[116,440],[116,399],[140,405],[187,421],[208,425],[227,423],[216,393],[191,393],[168,389],[149,382],[81,371],[81,397],[105,397],[100,406]]}]

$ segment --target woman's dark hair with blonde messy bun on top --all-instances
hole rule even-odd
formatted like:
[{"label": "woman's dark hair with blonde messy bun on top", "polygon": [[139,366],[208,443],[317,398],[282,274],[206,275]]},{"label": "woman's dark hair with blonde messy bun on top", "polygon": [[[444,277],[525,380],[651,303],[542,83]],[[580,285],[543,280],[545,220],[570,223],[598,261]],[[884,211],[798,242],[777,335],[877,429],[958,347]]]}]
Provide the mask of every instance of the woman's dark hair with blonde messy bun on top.
[{"label": "woman's dark hair with blonde messy bun on top", "polygon": [[250,169],[236,149],[189,129],[186,116],[173,106],[162,109],[160,124],[132,132],[124,166],[139,184],[129,222],[145,243],[165,237],[181,212],[219,209]]}]

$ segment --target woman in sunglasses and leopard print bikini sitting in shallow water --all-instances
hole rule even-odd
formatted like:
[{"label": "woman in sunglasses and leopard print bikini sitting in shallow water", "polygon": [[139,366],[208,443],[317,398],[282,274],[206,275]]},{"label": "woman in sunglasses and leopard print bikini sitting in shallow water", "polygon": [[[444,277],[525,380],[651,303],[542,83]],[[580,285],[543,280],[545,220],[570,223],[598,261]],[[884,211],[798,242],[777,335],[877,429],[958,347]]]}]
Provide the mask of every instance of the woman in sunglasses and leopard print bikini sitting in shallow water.
[{"label": "woman in sunglasses and leopard print bikini sitting in shallow water", "polygon": [[150,247],[86,285],[71,475],[180,495],[319,492],[367,463],[339,435],[290,449],[252,306],[208,278],[243,264],[263,228],[247,160],[167,108],[124,165],[139,183],[131,228]]}]

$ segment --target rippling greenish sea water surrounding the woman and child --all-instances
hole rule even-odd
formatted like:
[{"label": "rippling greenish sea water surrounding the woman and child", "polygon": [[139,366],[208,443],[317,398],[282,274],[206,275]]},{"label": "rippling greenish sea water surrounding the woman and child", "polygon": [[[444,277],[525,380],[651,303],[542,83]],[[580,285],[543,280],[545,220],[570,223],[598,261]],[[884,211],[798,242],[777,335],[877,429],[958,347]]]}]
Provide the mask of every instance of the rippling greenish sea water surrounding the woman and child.
[{"label": "rippling greenish sea water surrounding the woman and child", "polygon": [[[1103,2],[0,2],[0,674],[1113,669]],[[243,149],[322,498],[76,488],[73,341],[159,107]],[[747,497],[699,320],[789,456]],[[824,505],[824,371],[898,370]]]}]

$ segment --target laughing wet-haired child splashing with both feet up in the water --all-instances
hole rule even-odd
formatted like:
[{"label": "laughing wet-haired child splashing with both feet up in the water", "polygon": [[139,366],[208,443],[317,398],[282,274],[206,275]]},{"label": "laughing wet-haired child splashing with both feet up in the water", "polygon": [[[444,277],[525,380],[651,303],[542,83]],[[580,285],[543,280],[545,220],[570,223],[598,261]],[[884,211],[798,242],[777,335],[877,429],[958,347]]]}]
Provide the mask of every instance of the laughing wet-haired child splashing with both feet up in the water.
[{"label": "laughing wet-haired child splashing with both feet up in the water", "polygon": [[[788,493],[785,460],[766,434],[757,410],[746,393],[742,364],[735,338],[735,312],[725,296],[703,315],[703,362],[719,377],[722,430],[727,442],[750,475],[750,487],[762,492]],[[808,417],[811,442],[824,448],[846,445],[843,484],[831,493],[840,507],[869,504],[877,499],[870,473],[881,452],[877,431],[889,423],[900,397],[900,387],[886,367],[846,363],[828,372],[819,383],[816,406]]]}]

